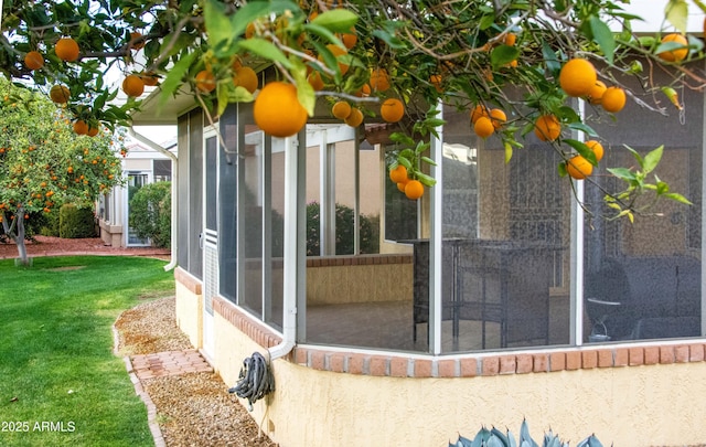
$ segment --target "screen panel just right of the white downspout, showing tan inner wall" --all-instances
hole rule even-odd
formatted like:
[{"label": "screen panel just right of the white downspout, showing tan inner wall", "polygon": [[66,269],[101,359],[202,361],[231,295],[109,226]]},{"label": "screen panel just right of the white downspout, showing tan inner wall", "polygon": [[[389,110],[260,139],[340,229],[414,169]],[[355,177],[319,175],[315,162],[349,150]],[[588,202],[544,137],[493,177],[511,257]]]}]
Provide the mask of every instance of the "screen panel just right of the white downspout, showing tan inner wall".
[{"label": "screen panel just right of the white downspout, showing tan inner wall", "polygon": [[[301,182],[309,217],[307,305],[299,334],[307,343],[426,351],[413,333],[411,247],[397,244],[384,251],[379,243],[383,185],[389,182],[383,156],[378,145],[361,150],[356,141],[347,126],[308,125],[307,179]],[[406,217],[413,220],[416,237],[416,213]]]}]

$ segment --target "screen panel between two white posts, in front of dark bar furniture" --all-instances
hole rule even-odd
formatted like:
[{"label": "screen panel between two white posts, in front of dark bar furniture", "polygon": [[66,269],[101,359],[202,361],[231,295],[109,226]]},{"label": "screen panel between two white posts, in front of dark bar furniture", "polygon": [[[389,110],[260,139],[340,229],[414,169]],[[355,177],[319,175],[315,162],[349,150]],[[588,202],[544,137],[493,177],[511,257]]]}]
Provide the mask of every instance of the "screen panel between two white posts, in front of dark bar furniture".
[{"label": "screen panel between two white posts, in front of dark bar furniture", "polygon": [[507,164],[498,139],[472,136],[467,113],[447,108],[445,119],[441,350],[568,343],[570,298],[556,273],[568,268],[570,189],[559,156],[528,140]]}]

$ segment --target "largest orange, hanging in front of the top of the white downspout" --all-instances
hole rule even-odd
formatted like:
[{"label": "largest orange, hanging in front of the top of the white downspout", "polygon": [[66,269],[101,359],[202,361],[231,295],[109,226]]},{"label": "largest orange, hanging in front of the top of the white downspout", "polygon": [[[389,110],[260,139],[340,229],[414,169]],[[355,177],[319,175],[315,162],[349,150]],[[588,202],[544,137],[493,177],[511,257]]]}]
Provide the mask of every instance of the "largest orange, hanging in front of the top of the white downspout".
[{"label": "largest orange, hanging in front of the top of the white downspout", "polygon": [[255,124],[274,137],[291,137],[307,124],[307,110],[297,98],[297,87],[275,81],[266,84],[253,106]]}]

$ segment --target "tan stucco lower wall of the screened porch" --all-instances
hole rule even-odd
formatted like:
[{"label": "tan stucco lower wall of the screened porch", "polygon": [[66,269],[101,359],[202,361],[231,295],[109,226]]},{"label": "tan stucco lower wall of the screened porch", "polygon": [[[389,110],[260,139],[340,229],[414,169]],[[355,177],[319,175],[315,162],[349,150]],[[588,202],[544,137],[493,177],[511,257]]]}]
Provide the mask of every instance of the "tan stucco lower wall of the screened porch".
[{"label": "tan stucco lower wall of the screened porch", "polygon": [[[176,318],[192,341],[200,340],[201,297],[197,280],[176,274]],[[227,311],[235,306],[221,300]],[[220,311],[214,316],[215,345],[213,366],[224,381],[224,389],[238,379],[243,360],[253,352],[266,352],[258,337],[256,319],[240,312],[247,330],[236,328],[233,320]],[[226,312],[227,313],[227,312]],[[252,321],[250,321],[252,320]],[[247,332],[247,333],[246,333]],[[668,343],[668,342],[664,342]],[[532,355],[501,353],[495,355],[500,371],[488,373],[481,354],[475,354],[478,374],[463,377],[405,377],[311,368],[298,355],[274,361],[276,392],[254,405],[253,418],[272,440],[287,447],[297,446],[446,446],[458,435],[472,437],[482,425],[507,427],[515,435],[526,418],[532,435],[542,439],[549,428],[576,445],[590,434],[603,445],[614,446],[684,446],[703,443],[703,421],[706,419],[706,362],[704,344],[693,343],[692,355],[665,362],[667,353],[689,352],[689,345],[634,344],[613,349],[617,352],[640,352],[640,365],[632,360],[624,365],[600,368],[584,361],[571,365],[568,359],[586,353],[603,359],[610,352],[565,348],[546,350],[547,358],[560,353],[567,359],[560,371],[503,373],[504,360]],[[315,348],[311,348],[315,352]],[[700,350],[700,351],[699,351]],[[543,351],[533,351],[535,355]],[[650,353],[657,353],[655,364],[648,364]],[[578,353],[578,354],[577,354]],[[696,354],[695,354],[696,353]],[[700,353],[700,355],[698,355]],[[367,352],[353,355],[382,356]],[[532,354],[532,353],[530,353]],[[565,355],[566,354],[566,355]],[[577,355],[573,355],[577,354]],[[313,355],[313,354],[309,354]],[[395,355],[399,356],[399,353]],[[489,354],[492,356],[493,354]],[[565,355],[565,356],[564,356]],[[462,361],[463,356],[456,356]],[[416,355],[410,361],[430,360],[440,374],[443,362],[451,358]],[[499,360],[498,360],[499,359]],[[610,360],[610,359],[609,359]],[[432,374],[434,375],[434,374]],[[244,402],[244,404],[246,404]]]}]

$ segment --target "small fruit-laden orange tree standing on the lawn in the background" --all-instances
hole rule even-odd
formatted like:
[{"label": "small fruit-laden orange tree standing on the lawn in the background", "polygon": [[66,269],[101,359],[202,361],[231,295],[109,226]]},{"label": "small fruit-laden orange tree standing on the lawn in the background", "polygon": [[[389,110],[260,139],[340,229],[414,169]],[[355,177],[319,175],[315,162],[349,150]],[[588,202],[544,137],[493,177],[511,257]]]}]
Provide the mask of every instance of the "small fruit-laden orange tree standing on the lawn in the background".
[{"label": "small fruit-laden orange tree standing on the lawn in the background", "polygon": [[26,221],[63,203],[90,206],[120,181],[116,142],[103,130],[76,136],[44,95],[0,82],[0,221],[26,264]]}]

